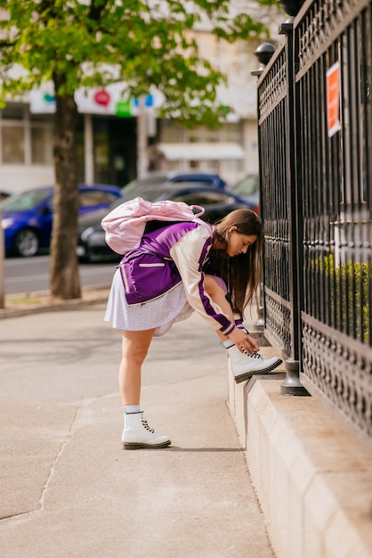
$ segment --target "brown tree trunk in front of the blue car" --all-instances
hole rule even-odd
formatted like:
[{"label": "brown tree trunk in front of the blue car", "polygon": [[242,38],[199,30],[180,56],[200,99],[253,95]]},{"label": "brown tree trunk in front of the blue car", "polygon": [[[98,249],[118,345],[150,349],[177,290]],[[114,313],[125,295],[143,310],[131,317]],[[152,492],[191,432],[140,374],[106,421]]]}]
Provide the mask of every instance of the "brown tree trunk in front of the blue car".
[{"label": "brown tree trunk in front of the blue car", "polygon": [[[61,80],[54,78],[58,92]],[[77,263],[77,104],[74,96],[56,94],[54,120],[54,202],[50,288],[53,298],[81,298]]]}]

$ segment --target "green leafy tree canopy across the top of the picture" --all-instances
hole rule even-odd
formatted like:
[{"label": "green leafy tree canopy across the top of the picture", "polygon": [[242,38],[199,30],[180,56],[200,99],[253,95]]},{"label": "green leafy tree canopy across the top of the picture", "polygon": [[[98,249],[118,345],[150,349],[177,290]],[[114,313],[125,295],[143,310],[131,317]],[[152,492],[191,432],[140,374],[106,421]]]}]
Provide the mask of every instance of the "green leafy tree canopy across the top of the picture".
[{"label": "green leafy tree canopy across the top of the picture", "polygon": [[246,13],[231,18],[229,4],[0,0],[8,13],[0,21],[0,99],[47,81],[58,84],[57,96],[124,81],[126,98],[156,86],[165,96],[159,116],[214,126],[226,115],[215,93],[225,78],[199,57],[190,29],[203,20],[229,42],[266,34]]}]

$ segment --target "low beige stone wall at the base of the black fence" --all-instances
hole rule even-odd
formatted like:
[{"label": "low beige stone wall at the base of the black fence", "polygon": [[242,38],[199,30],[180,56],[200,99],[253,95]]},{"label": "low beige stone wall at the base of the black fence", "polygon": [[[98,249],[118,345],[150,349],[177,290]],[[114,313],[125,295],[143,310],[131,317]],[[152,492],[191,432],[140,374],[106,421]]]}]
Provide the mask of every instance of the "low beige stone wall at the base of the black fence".
[{"label": "low beige stone wall at the base of the black fence", "polygon": [[[274,351],[263,347],[261,353]],[[230,414],[274,552],[279,558],[370,558],[372,457],[317,398],[280,395],[284,378],[284,365],[241,384],[229,370]]]}]

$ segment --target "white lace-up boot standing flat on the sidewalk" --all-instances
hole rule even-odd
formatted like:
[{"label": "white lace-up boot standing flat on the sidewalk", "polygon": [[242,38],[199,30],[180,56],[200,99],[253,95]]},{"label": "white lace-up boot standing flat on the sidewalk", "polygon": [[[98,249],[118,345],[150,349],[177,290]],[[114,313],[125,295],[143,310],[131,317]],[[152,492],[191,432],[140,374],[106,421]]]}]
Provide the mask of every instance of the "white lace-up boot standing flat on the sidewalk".
[{"label": "white lace-up boot standing flat on the sidewalk", "polygon": [[143,411],[124,415],[123,431],[124,449],[138,449],[139,447],[166,447],[171,440],[167,436],[157,436],[155,431],[143,418]]}]

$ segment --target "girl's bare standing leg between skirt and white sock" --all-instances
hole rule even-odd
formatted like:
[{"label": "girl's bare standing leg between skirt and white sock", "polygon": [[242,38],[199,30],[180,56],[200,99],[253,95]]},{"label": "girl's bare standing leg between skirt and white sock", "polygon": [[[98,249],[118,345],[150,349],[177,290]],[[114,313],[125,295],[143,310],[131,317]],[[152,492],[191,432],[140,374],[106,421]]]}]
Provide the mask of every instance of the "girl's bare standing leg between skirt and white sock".
[{"label": "girl's bare standing leg between skirt and white sock", "polygon": [[123,406],[140,405],[142,364],[154,331],[123,332],[123,357],[119,367],[119,390]]}]

